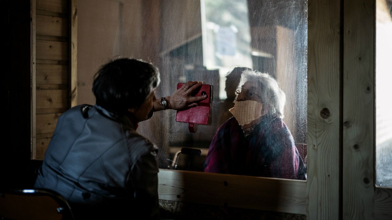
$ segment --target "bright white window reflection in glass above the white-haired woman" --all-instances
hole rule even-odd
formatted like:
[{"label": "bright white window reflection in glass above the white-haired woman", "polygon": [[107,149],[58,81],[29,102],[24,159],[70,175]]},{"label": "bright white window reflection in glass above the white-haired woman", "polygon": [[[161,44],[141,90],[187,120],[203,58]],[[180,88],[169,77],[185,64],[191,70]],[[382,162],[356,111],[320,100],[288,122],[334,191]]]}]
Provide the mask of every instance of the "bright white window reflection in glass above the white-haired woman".
[{"label": "bright white window reflection in glass above the white-haired woman", "polygon": [[247,0],[200,0],[200,6],[203,65],[219,70],[224,99],[226,73],[236,65],[252,67]]}]

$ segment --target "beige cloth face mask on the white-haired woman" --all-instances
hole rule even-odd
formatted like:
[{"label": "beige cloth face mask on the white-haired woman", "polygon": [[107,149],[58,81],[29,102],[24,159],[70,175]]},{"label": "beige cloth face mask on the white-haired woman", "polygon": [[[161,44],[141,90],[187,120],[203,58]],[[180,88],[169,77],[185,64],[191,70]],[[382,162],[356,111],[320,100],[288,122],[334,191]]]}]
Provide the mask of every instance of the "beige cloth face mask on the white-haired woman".
[{"label": "beige cloth face mask on the white-haired woman", "polygon": [[261,117],[262,110],[263,104],[258,101],[251,100],[234,100],[234,107],[229,109],[230,113],[234,115],[240,126],[250,124],[252,121],[259,119]]}]

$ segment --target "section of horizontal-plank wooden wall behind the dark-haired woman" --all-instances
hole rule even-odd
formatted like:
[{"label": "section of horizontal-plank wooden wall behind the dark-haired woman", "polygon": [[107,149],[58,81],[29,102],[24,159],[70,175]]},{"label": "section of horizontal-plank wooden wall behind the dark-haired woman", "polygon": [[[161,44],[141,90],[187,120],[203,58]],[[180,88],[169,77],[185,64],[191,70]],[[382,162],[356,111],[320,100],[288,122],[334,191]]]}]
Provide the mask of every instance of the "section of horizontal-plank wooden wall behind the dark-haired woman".
[{"label": "section of horizontal-plank wooden wall behind the dark-haired woman", "polygon": [[58,117],[76,99],[71,89],[75,61],[70,62],[70,58],[76,55],[76,35],[70,34],[71,23],[75,25],[71,19],[76,20],[76,14],[70,13],[72,2],[36,0],[36,142],[32,159],[44,158]]}]

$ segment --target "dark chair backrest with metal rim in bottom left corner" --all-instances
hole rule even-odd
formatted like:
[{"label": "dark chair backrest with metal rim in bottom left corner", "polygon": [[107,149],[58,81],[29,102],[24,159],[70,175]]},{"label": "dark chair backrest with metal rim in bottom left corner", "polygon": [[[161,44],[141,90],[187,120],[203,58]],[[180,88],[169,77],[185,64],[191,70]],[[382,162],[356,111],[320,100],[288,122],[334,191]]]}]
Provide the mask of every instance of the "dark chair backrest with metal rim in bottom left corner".
[{"label": "dark chair backrest with metal rim in bottom left corner", "polygon": [[56,220],[71,219],[68,202],[48,189],[20,189],[0,191],[0,219]]}]

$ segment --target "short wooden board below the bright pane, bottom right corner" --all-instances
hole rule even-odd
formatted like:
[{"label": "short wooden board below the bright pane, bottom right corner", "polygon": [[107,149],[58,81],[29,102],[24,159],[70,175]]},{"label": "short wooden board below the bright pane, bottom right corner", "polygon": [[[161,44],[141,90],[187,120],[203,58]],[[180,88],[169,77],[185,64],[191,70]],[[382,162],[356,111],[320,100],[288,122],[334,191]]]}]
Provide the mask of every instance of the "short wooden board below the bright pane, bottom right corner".
[{"label": "short wooden board below the bright pane, bottom right corner", "polygon": [[374,219],[392,219],[392,189],[376,187],[374,191]]}]

